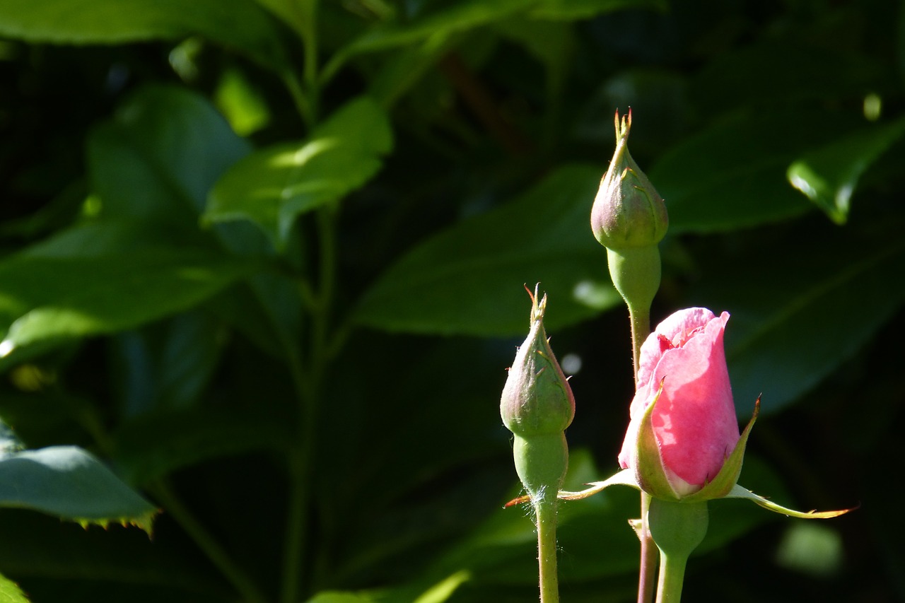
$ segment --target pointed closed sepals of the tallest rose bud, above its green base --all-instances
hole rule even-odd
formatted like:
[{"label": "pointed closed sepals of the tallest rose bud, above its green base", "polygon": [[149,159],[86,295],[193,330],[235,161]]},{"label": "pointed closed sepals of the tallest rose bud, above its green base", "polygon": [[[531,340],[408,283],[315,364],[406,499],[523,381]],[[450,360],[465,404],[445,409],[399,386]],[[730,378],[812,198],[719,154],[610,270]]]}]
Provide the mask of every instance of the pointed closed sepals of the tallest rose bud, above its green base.
[{"label": "pointed closed sepals of the tallest rose bud, above its green base", "polygon": [[591,209],[591,230],[607,249],[655,246],[669,226],[662,197],[628,152],[632,111],[615,116],[616,149]]}]

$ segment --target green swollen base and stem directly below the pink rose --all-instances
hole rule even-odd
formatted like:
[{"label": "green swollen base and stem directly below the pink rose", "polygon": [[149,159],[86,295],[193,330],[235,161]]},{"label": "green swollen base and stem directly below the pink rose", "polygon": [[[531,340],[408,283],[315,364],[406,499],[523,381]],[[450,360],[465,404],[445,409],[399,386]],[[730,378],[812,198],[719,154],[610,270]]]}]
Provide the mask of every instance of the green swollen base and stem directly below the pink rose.
[{"label": "green swollen base and stem directly below the pink rose", "polygon": [[657,603],[679,603],[688,558],[707,534],[707,502],[672,503],[654,498],[649,522],[660,549]]}]

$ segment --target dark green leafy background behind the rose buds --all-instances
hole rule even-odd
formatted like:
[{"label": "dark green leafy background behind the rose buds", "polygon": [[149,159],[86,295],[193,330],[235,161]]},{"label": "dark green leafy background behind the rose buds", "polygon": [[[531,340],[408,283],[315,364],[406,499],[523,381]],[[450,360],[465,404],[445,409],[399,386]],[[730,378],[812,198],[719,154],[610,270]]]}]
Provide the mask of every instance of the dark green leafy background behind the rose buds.
[{"label": "dark green leafy background behind the rose buds", "polygon": [[[829,573],[710,503],[687,598],[905,598],[901,10],[0,2],[0,469],[52,457],[0,483],[0,574],[35,603],[536,598],[504,369],[540,282],[582,361],[567,487],[614,472],[631,347],[589,217],[631,106],[670,217],[652,320],[729,311],[738,415],[763,395],[740,482],[862,503],[819,524]],[[150,508],[153,541],[41,513]],[[561,505],[564,603],[634,600],[636,513]]]}]

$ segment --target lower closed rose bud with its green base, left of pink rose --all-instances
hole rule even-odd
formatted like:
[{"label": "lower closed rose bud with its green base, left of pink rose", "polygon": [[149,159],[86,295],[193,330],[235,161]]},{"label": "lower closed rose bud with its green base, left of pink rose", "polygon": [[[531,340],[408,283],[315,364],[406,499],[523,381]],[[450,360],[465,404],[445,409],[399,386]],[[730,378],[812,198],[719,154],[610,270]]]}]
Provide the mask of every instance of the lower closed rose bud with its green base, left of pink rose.
[{"label": "lower closed rose bud with its green base, left of pink rose", "polygon": [[547,296],[538,301],[536,288],[531,302],[530,332],[503,387],[500,416],[515,436],[521,483],[532,499],[555,499],[568,465],[565,431],[575,416],[575,397],[544,330]]}]

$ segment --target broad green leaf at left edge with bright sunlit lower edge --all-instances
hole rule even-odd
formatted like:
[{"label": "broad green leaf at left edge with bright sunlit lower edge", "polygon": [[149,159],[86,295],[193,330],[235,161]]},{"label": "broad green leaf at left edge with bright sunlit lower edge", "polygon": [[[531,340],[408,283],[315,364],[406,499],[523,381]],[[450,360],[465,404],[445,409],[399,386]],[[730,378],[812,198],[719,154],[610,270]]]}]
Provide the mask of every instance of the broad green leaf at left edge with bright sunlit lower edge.
[{"label": "broad green leaf at left edge with bright sunlit lower edge", "polygon": [[[63,232],[0,262],[0,355],[34,344],[110,333],[186,310],[251,272],[253,264],[162,245],[73,254],[86,234]],[[128,229],[127,229],[128,232]]]}]

